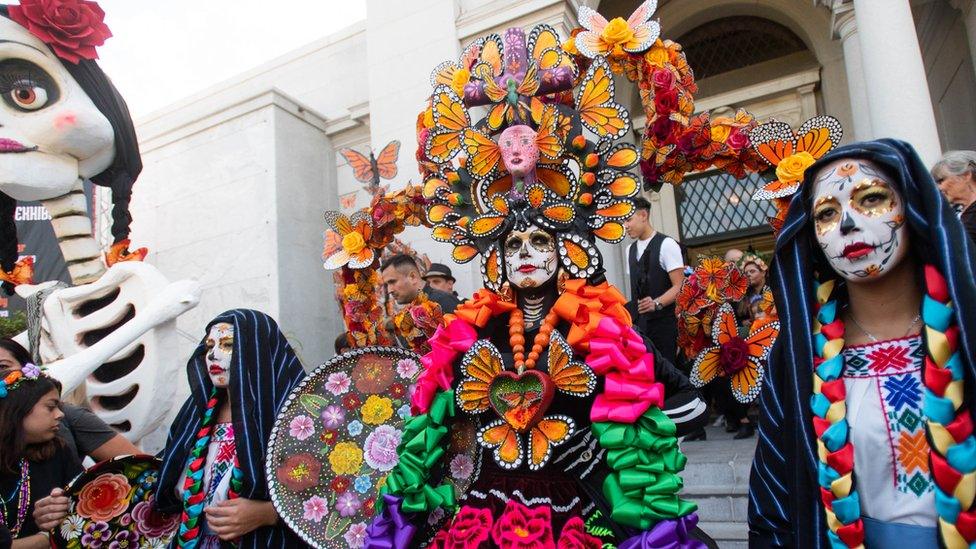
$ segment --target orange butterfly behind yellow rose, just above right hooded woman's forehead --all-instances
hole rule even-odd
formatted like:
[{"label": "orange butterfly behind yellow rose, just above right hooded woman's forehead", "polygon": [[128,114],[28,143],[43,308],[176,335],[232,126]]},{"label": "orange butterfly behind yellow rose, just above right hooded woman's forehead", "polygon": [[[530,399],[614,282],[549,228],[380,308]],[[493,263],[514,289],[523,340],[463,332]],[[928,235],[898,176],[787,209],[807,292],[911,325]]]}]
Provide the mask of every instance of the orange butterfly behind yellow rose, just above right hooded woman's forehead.
[{"label": "orange butterfly behind yellow rose, just above right hooded woman's forehead", "polygon": [[[840,143],[844,129],[833,116],[815,116],[800,125],[795,133],[786,122],[770,120],[749,132],[752,148],[770,166],[776,167],[786,157],[809,153],[820,158]],[[755,200],[771,200],[794,194],[799,181],[771,181],[752,195]]]}]

